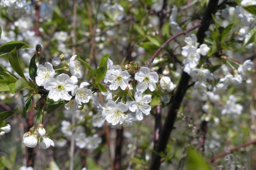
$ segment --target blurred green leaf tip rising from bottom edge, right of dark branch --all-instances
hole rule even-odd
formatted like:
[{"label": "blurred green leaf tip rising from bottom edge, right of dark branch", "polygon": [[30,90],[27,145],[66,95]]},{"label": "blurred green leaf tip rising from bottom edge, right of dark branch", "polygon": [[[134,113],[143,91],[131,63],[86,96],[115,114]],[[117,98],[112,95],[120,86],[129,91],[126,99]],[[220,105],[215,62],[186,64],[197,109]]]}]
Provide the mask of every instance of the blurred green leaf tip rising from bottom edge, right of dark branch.
[{"label": "blurred green leaf tip rising from bottom edge, right of dark branch", "polygon": [[211,167],[194,148],[188,147],[187,151],[185,170],[211,170]]}]

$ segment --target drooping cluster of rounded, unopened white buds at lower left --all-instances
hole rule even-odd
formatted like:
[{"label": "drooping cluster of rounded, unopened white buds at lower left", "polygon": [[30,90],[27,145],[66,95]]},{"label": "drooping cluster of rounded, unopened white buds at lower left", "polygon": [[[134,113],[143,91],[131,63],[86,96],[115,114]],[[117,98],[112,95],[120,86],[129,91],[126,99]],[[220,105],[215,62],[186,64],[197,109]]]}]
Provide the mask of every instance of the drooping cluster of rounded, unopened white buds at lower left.
[{"label": "drooping cluster of rounded, unopened white buds at lower left", "polygon": [[[38,134],[39,139],[37,138]],[[29,148],[35,148],[37,143],[39,143],[39,149],[47,149],[50,146],[54,147],[54,142],[47,137],[43,124],[39,124],[38,130],[30,128],[29,132],[23,135],[23,143]]]}]

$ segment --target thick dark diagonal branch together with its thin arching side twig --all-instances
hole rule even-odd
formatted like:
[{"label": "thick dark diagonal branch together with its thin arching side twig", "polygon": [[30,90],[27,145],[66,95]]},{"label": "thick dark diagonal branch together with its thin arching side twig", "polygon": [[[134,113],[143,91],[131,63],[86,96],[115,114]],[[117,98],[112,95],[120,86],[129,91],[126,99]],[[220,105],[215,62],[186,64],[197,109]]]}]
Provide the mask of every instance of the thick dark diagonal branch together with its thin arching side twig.
[{"label": "thick dark diagonal branch together with its thin arching side twig", "polygon": [[[217,5],[218,5],[218,1],[210,0],[208,6],[206,8],[204,18],[201,22],[202,24],[196,25],[197,27],[200,26],[197,31],[197,39],[198,39],[198,43],[200,43],[200,44],[202,44],[203,39],[205,37],[205,31],[207,29],[209,29],[210,23],[212,21],[212,14],[215,14],[215,12],[217,11]],[[190,28],[190,29],[193,30],[192,28]],[[187,32],[185,32],[185,33],[187,33]],[[182,35],[182,34],[179,33],[179,35]],[[173,40],[175,37],[178,37],[179,35],[175,35],[175,36],[171,37],[169,40],[167,40],[165,42],[165,44],[163,44],[160,48],[158,48],[157,52],[150,58],[149,62],[147,63],[147,66],[149,66],[149,64],[154,61],[154,58],[156,57],[156,55],[160,52],[161,49],[164,48],[164,46],[167,43],[169,43],[171,40]],[[185,96],[186,91],[188,89],[189,79],[190,79],[189,75],[185,72],[182,72],[178,88],[173,97],[173,103],[172,103],[171,108],[167,114],[166,120],[164,122],[164,126],[160,132],[158,145],[155,149],[155,152],[153,152],[153,155],[152,155],[152,160],[151,160],[151,164],[149,167],[150,170],[158,170],[160,168],[161,156],[159,156],[159,153],[164,152],[166,149],[167,142],[169,141],[171,132],[174,129],[173,125],[175,123],[177,113],[178,113],[180,105],[181,105],[181,101],[182,101],[183,97]]]}]

